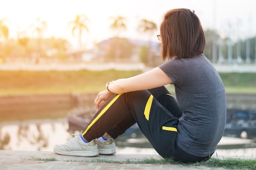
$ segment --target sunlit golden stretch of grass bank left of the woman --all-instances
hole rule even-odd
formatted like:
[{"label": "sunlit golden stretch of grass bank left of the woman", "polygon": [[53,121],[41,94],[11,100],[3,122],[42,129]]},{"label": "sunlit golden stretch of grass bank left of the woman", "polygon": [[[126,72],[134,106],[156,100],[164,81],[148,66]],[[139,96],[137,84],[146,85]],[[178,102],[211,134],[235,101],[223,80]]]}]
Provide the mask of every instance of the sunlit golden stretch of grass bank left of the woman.
[{"label": "sunlit golden stretch of grass bank left of the woman", "polygon": [[107,82],[141,71],[1,71],[0,95],[99,92]]}]

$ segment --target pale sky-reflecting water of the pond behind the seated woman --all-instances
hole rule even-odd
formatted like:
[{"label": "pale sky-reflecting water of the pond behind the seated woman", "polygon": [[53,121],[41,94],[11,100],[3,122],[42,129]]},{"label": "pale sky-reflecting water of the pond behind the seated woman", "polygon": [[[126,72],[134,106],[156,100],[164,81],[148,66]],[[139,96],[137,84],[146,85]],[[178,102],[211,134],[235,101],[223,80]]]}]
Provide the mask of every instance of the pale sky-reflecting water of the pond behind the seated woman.
[{"label": "pale sky-reflecting water of the pond behind the seated woman", "polygon": [[[72,132],[68,132],[68,128],[65,118],[1,122],[0,150],[52,151],[55,144],[65,143],[72,139]],[[221,149],[217,149],[215,155],[217,153],[236,157],[255,156],[256,145],[251,146],[254,142],[251,139],[224,136],[218,146]],[[250,145],[250,147],[241,148],[241,144]],[[119,154],[157,154],[145,138],[116,140],[116,145]],[[141,145],[144,147],[140,148]],[[240,148],[237,149],[236,146]]]}]

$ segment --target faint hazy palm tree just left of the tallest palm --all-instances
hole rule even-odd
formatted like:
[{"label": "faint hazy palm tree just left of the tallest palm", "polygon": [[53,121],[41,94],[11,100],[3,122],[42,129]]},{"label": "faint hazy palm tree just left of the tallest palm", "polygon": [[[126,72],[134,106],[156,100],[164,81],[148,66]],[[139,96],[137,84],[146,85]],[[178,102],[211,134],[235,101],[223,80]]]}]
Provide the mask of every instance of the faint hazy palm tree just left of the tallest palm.
[{"label": "faint hazy palm tree just left of the tallest palm", "polygon": [[43,39],[43,33],[47,29],[47,23],[44,20],[40,20],[39,18],[36,18],[36,23],[34,25],[30,25],[32,27],[33,32],[36,33],[37,42],[38,42],[38,59],[42,56],[42,39]]}]

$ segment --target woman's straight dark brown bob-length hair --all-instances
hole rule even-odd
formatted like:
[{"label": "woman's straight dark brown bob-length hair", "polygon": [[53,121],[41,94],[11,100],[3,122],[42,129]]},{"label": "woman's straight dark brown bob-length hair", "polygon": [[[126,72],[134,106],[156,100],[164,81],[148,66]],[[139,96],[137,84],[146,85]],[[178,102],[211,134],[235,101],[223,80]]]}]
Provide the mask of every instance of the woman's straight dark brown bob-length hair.
[{"label": "woman's straight dark brown bob-length hair", "polygon": [[189,9],[167,11],[160,25],[162,59],[191,58],[203,53],[205,38],[198,16]]}]

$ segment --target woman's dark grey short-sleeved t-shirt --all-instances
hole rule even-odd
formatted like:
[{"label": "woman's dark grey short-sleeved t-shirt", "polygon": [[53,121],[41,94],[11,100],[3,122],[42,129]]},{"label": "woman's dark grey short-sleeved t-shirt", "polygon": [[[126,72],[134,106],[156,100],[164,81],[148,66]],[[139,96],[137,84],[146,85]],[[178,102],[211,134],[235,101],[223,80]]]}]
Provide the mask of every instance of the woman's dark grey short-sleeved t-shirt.
[{"label": "woman's dark grey short-sleeved t-shirt", "polygon": [[216,150],[226,123],[226,94],[218,72],[204,54],[170,60],[159,68],[171,78],[183,111],[177,145],[194,156],[209,156]]}]

